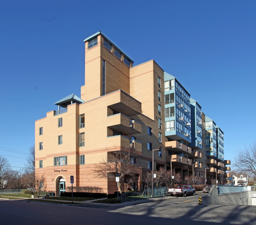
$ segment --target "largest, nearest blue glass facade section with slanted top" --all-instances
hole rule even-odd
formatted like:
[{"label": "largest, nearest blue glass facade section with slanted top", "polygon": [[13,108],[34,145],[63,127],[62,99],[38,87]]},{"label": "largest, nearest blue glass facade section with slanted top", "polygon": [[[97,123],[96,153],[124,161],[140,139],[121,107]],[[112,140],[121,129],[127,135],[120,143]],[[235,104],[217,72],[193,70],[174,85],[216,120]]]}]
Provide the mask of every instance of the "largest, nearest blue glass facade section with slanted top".
[{"label": "largest, nearest blue glass facade section with slanted top", "polygon": [[165,135],[177,135],[191,142],[190,94],[168,73],[164,73]]}]

